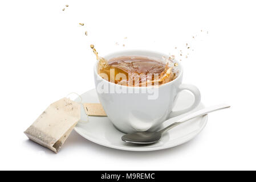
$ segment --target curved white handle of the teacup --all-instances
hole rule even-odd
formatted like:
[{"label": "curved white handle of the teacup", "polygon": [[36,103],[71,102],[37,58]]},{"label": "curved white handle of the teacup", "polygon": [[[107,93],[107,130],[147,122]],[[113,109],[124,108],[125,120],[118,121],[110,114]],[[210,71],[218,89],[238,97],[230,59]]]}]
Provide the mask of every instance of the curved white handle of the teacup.
[{"label": "curved white handle of the teacup", "polygon": [[190,84],[181,84],[178,87],[177,92],[181,92],[182,90],[189,90],[190,92],[193,93],[194,95],[194,103],[192,104],[192,106],[188,107],[187,109],[184,110],[178,110],[178,111],[173,111],[170,113],[170,117],[176,117],[177,115],[181,115],[184,113],[187,113],[190,110],[193,110],[194,108],[196,108],[201,101],[201,94],[200,91],[198,90],[198,88],[194,85],[190,85]]}]

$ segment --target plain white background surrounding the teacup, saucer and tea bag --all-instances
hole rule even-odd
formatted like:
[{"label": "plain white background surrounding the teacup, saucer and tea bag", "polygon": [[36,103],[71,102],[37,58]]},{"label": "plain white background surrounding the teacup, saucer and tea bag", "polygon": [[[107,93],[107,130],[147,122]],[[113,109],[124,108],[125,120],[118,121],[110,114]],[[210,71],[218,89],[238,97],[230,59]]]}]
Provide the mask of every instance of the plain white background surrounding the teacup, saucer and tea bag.
[{"label": "plain white background surrounding the teacup, saucer and tea bag", "polygon": [[[254,1],[1,1],[0,169],[256,169],[255,17]],[[23,134],[52,102],[94,88],[90,44],[100,55],[177,55],[186,43],[184,82],[198,86],[206,106],[231,105],[190,142],[129,152],[73,131],[56,155]]]}]

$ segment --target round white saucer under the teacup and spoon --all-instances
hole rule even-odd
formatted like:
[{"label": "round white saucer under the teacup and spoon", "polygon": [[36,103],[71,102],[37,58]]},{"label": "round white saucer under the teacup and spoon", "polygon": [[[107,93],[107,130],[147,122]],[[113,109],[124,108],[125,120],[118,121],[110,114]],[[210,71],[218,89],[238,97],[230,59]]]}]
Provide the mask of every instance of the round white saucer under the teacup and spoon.
[{"label": "round white saucer under the teacup and spoon", "polygon": [[[81,96],[83,98],[83,102],[99,103],[95,89],[89,90]],[[75,101],[79,102],[80,98],[76,98]],[[176,106],[173,110],[185,109],[192,103],[192,94],[183,91],[179,94]],[[199,110],[204,107],[205,106],[200,103],[200,105],[194,110]],[[166,132],[162,136],[160,142],[148,145],[138,145],[123,142],[121,137],[124,135],[124,133],[117,130],[112,125],[108,117],[87,117],[83,107],[81,107],[81,109],[81,121],[79,121],[75,127],[75,131],[78,134],[88,140],[91,140],[91,142],[100,144],[102,146],[128,151],[153,151],[178,146],[179,144],[188,142],[192,138],[196,137],[196,135],[200,133],[202,129],[204,129],[208,120],[208,115],[191,119],[191,121],[183,123],[182,125]],[[173,118],[172,121],[168,123],[165,122],[163,126],[165,127],[170,123],[173,123],[178,117]]]}]

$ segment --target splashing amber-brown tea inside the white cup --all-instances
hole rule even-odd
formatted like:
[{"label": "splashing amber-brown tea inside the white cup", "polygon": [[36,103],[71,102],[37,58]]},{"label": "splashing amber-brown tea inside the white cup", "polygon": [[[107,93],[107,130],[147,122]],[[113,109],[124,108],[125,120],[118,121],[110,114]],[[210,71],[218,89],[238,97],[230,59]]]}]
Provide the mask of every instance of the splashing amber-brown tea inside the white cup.
[{"label": "splashing amber-brown tea inside the white cup", "polygon": [[172,59],[155,60],[144,56],[120,56],[105,60],[91,45],[99,61],[98,73],[107,81],[125,86],[157,86],[170,82],[177,77],[177,66]]}]

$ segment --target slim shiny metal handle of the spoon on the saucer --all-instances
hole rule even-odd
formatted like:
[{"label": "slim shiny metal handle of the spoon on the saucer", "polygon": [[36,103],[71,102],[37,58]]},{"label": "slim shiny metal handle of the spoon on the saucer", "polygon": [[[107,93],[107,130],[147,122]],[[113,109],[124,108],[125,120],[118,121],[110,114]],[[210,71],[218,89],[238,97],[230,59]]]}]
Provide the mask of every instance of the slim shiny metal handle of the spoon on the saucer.
[{"label": "slim shiny metal handle of the spoon on the saucer", "polygon": [[165,127],[164,129],[160,130],[159,132],[164,133],[165,131],[172,129],[173,127],[176,127],[176,126],[188,121],[189,119],[193,119],[193,118],[199,117],[201,115],[212,113],[213,111],[225,109],[225,108],[228,108],[228,107],[230,107],[230,106],[227,105],[227,104],[220,104],[220,105],[206,107],[205,109],[195,111],[194,113],[188,114],[185,117],[183,117],[181,119],[178,119],[178,121],[172,123],[172,125],[169,125],[169,126]]}]

